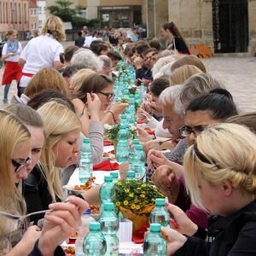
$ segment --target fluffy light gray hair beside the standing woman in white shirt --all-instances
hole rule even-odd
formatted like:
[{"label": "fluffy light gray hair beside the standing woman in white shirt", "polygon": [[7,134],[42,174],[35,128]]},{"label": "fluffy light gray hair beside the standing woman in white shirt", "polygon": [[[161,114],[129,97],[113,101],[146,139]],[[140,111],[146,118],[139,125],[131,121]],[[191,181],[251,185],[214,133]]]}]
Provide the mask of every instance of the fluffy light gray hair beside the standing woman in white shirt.
[{"label": "fluffy light gray hair beside the standing woman in white shirt", "polygon": [[90,50],[79,49],[74,54],[70,64],[83,64],[84,68],[90,68],[94,71],[102,69],[102,61]]}]

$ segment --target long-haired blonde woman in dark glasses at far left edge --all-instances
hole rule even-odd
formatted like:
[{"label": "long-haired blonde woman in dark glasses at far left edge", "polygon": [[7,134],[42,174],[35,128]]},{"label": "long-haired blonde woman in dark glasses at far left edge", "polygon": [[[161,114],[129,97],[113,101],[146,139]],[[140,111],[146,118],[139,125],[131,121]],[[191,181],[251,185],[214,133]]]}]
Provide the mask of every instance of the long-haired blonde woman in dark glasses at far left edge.
[{"label": "long-haired blonde woman in dark glasses at far left edge", "polygon": [[[15,183],[27,176],[31,162],[31,135],[25,125],[7,111],[0,110],[0,211],[12,214],[26,212],[26,204]],[[7,253],[14,240],[22,234],[22,225],[14,220],[0,217],[0,254]],[[27,255],[40,236],[39,229],[32,226],[16,245],[17,254]]]}]

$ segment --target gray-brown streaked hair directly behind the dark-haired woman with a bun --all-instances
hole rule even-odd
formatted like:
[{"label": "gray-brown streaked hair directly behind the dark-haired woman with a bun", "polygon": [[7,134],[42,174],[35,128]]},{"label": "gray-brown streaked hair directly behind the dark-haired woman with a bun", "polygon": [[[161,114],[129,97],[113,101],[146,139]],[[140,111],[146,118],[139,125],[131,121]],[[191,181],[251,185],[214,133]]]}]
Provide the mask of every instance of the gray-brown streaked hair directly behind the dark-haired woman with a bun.
[{"label": "gray-brown streaked hair directly behind the dark-haired woman with a bun", "polygon": [[224,85],[221,84],[218,79],[213,78],[208,73],[195,74],[183,84],[183,90],[180,94],[180,101],[183,103],[183,105],[187,106],[196,97],[202,96],[210,90],[217,88],[224,89]]}]

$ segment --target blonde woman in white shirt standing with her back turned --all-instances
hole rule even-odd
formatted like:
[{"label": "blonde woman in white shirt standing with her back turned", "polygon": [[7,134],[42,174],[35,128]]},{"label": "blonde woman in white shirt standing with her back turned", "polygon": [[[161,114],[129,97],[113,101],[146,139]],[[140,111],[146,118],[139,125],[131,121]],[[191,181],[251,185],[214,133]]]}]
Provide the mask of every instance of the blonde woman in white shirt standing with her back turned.
[{"label": "blonde woman in white shirt standing with her back turned", "polygon": [[19,85],[20,95],[41,67],[54,67],[58,70],[64,66],[60,59],[60,54],[64,52],[60,42],[65,40],[62,20],[54,15],[49,16],[44,22],[41,35],[29,41],[20,55],[19,64],[23,68]]}]

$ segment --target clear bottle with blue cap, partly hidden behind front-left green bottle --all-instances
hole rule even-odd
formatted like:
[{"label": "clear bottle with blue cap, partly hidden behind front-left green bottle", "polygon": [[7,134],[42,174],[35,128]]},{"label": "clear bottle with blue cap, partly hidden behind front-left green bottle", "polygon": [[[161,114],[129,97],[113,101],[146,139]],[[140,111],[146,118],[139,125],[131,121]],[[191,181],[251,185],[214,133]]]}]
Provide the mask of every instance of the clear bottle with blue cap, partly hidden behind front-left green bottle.
[{"label": "clear bottle with blue cap, partly hidden behind front-left green bottle", "polygon": [[83,252],[83,242],[84,237],[89,231],[90,223],[96,222],[96,220],[92,217],[90,217],[90,209],[88,209],[84,214],[82,215],[82,224],[79,227],[79,236],[76,240],[76,256],[84,256]]}]

